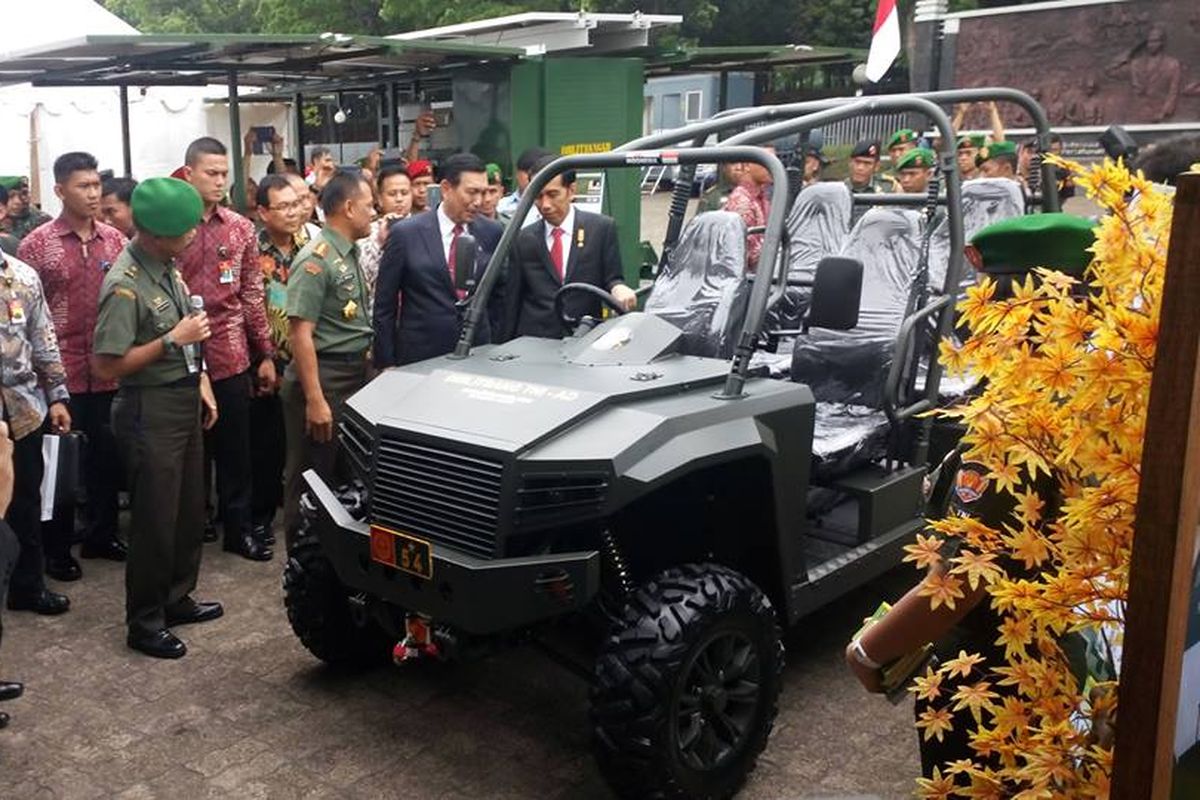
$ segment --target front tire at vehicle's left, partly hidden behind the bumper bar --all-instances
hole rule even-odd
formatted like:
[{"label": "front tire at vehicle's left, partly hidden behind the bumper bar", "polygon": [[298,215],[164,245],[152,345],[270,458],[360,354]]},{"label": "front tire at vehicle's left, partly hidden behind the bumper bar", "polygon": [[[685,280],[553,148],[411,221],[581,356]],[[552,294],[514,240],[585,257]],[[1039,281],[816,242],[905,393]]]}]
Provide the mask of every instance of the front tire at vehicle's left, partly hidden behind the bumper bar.
[{"label": "front tire at vehicle's left, partly hidden behind the bumper bar", "polygon": [[370,667],[391,656],[391,639],[373,620],[355,621],[350,593],[304,516],[283,567],[283,604],[300,643],[325,663]]}]

